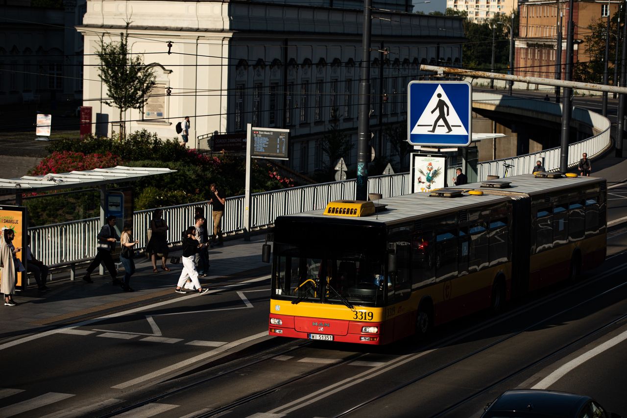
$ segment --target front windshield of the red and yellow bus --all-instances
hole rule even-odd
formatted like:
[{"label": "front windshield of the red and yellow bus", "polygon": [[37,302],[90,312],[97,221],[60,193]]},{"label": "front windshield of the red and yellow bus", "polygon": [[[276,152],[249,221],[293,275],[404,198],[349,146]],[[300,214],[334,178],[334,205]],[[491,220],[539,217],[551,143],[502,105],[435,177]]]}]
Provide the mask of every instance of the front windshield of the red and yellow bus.
[{"label": "front windshield of the red and yellow bus", "polygon": [[275,243],[273,296],[330,304],[381,306],[384,265],[372,254],[337,252],[333,257]]}]

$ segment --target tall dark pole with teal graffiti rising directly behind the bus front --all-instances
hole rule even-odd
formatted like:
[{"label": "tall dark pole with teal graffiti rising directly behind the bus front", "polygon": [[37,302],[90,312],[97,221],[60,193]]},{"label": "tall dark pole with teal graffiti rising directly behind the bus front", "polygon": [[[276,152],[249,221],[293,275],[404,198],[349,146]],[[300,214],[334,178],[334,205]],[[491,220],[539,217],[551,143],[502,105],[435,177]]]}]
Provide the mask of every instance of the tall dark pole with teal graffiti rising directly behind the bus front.
[{"label": "tall dark pole with teal graffiti rising directly behind the bus front", "polygon": [[361,82],[359,83],[359,122],[357,124],[357,188],[356,199],[366,200],[368,194],[368,139],[370,136],[370,40],[372,0],[364,0],[364,32],[362,36]]}]

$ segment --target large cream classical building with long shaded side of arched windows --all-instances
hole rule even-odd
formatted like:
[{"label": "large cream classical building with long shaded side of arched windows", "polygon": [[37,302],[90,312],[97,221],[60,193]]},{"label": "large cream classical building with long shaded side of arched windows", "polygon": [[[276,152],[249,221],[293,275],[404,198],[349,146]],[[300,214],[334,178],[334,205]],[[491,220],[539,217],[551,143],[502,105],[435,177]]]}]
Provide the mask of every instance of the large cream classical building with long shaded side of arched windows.
[{"label": "large cream classical building with long shaded side of arched windows", "polygon": [[[144,54],[157,85],[143,111],[126,112],[127,132],[147,129],[174,138],[176,123],[189,116],[189,146],[204,148],[213,132],[245,132],[248,123],[290,129],[288,165],[302,173],[322,168],[320,138],[331,124],[356,142],[361,3],[155,3],[87,1],[78,30],[85,37],[84,104],[93,107],[94,122],[102,122],[94,131],[110,134],[119,119],[119,111],[100,100],[107,88],[94,54],[103,33],[105,41],[119,40],[130,21],[130,48]],[[407,6],[385,4],[399,11]],[[421,63],[461,66],[464,39],[459,18],[372,14],[370,123],[377,131],[406,119],[408,82],[427,75],[419,71]],[[389,153],[384,139],[376,149]],[[349,168],[356,162],[356,147],[345,160]]]}]

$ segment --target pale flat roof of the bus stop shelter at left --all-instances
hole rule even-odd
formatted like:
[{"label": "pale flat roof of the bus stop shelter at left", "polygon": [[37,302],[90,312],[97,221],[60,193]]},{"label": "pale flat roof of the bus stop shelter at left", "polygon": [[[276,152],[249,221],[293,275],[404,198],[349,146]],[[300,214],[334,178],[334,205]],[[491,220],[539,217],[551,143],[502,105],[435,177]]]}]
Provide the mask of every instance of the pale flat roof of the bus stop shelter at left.
[{"label": "pale flat roof of the bus stop shelter at left", "polygon": [[85,171],[70,171],[70,173],[48,173],[44,176],[0,178],[0,195],[125,183],[154,174],[167,174],[175,171],[159,167],[115,166]]}]

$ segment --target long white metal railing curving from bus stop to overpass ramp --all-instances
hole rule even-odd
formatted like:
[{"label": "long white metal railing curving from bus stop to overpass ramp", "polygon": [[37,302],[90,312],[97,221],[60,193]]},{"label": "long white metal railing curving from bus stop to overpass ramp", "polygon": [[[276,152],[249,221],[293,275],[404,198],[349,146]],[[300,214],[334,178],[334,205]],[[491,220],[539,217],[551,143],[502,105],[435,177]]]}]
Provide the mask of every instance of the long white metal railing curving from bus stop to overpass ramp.
[{"label": "long white metal railing curving from bus stop to overpass ramp", "polygon": [[[485,95],[500,97],[498,94]],[[520,103],[521,101],[517,100],[517,102]],[[611,146],[608,119],[582,109],[576,109],[576,112],[573,112],[573,119],[592,124],[599,133],[569,146],[569,167],[577,166],[582,152],[585,151],[591,158],[594,158]],[[504,163],[512,164],[508,176],[531,173],[535,161],[541,158],[544,158],[545,169],[556,171],[559,168],[559,152],[559,147],[556,147],[514,158],[479,163],[478,180],[486,180],[488,175],[502,177],[505,171]],[[448,168],[447,179],[455,176],[456,168],[458,166]],[[368,192],[381,193],[384,198],[404,195],[411,192],[411,181],[409,173],[373,176],[368,179]],[[356,180],[253,193],[251,199],[252,227],[253,229],[270,227],[280,215],[320,210],[330,200],[354,199],[355,195]],[[164,220],[169,225],[167,240],[170,244],[181,241],[182,232],[194,222],[195,210],[198,207],[203,208],[203,213],[207,218],[205,225],[211,233],[213,220],[211,218],[211,205],[207,201],[162,208]],[[226,198],[222,220],[223,232],[227,235],[242,233],[244,229],[243,213],[244,196]],[[140,210],[133,215],[134,238],[139,240],[139,249],[144,248],[147,244],[147,231],[150,227],[151,218],[152,210]],[[36,258],[49,265],[71,264],[76,260],[93,257],[96,254],[96,235],[100,231],[100,226],[98,218],[91,218],[29,228],[33,252]]]}]

